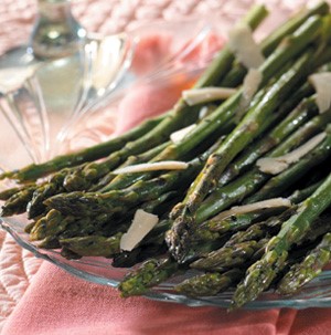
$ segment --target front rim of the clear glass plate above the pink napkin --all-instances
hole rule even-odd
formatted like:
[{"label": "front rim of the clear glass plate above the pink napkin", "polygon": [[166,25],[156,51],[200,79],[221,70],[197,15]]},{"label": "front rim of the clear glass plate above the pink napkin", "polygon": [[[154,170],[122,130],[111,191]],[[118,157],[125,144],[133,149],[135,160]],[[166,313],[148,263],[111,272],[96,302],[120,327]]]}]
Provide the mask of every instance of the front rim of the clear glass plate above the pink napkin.
[{"label": "front rim of the clear glass plate above the pink napkin", "polygon": [[[85,281],[88,281],[90,283],[106,285],[116,289],[119,284],[119,281],[111,278],[105,278],[100,276],[98,274],[93,274],[87,271],[82,271],[77,268],[75,268],[75,264],[81,263],[85,265],[92,265],[96,266],[96,263],[88,262],[88,258],[83,258],[78,261],[67,261],[63,259],[58,252],[53,250],[43,250],[35,247],[33,243],[30,243],[28,240],[24,240],[20,232],[15,230],[13,224],[13,220],[11,219],[4,219],[0,218],[0,227],[10,233],[10,235],[15,240],[15,242],[22,247],[23,249],[32,252],[36,258],[42,259],[44,261],[47,261],[60,269],[66,271],[67,273],[78,278],[83,279]],[[28,235],[26,233],[24,233]],[[105,265],[103,265],[105,266]],[[109,263],[109,269],[115,269]],[[116,271],[121,272],[122,274],[126,274],[130,269],[120,269],[116,268]],[[319,283],[322,281],[328,281],[331,279],[331,270],[323,271],[317,279],[314,279],[311,284]],[[162,290],[160,290],[160,286]],[[162,292],[164,291],[166,292]],[[168,290],[167,290],[168,289]],[[153,287],[152,290],[148,291],[146,294],[141,295],[141,297],[158,301],[158,302],[169,302],[169,303],[175,303],[175,304],[183,304],[190,307],[201,307],[201,306],[215,306],[221,308],[228,308],[231,306],[231,299],[220,299],[218,295],[216,296],[206,296],[206,297],[200,297],[200,299],[193,299],[185,295],[177,294],[167,292],[171,290],[171,284],[168,282],[162,283],[159,286]],[[330,289],[331,291],[331,289]],[[227,291],[225,294],[232,293],[233,291]],[[119,292],[118,292],[119,294]],[[274,292],[266,292],[263,294],[274,294]],[[292,297],[285,297],[284,300],[256,300],[254,302],[248,303],[243,310],[269,310],[269,308],[295,308],[295,310],[302,310],[302,308],[309,308],[309,307],[331,307],[331,293],[329,296],[324,297],[312,297],[312,299],[299,299],[296,296]]]}]

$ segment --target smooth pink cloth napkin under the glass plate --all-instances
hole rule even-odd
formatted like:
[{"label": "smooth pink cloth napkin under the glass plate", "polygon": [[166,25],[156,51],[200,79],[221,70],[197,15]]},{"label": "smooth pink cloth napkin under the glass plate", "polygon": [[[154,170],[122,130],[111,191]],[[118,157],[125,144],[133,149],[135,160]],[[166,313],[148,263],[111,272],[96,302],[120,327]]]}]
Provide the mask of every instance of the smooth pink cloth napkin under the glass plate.
[{"label": "smooth pink cloth napkin under the glass plate", "polygon": [[[159,50],[153,46],[158,42],[145,43],[151,59],[153,52]],[[117,130],[122,132],[142,118],[167,109],[179,97],[180,90],[190,84],[185,78],[178,77],[178,81],[162,87],[147,84],[139,91],[132,91],[120,104]],[[227,313],[220,307],[189,307],[145,297],[125,300],[115,289],[83,281],[43,262],[2,334],[317,335],[331,334],[330,316],[331,308],[242,310]]]}]

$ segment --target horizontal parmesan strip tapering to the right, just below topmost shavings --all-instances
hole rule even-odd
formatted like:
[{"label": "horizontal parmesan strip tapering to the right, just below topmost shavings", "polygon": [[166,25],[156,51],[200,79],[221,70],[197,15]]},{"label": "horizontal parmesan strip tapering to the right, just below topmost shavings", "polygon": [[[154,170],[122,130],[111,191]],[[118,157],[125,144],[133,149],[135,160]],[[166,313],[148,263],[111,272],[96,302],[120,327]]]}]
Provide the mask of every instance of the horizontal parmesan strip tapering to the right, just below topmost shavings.
[{"label": "horizontal parmesan strip tapering to the right, just below topmost shavings", "polygon": [[201,103],[227,98],[235,92],[235,88],[227,87],[203,87],[185,90],[183,91],[182,96],[189,106],[194,106]]}]

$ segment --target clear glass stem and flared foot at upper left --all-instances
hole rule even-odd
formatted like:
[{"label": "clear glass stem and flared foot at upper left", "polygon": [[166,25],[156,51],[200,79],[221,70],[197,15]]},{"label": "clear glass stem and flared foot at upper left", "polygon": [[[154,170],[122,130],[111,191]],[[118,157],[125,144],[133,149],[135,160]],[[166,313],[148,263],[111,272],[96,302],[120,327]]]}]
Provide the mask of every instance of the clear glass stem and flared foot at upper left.
[{"label": "clear glass stem and flared foot at upper left", "polygon": [[0,107],[31,155],[36,150],[31,139],[39,119],[43,154],[33,155],[34,161],[58,151],[73,119],[118,85],[134,51],[125,33],[87,33],[71,4],[38,0],[29,41],[0,56]]}]

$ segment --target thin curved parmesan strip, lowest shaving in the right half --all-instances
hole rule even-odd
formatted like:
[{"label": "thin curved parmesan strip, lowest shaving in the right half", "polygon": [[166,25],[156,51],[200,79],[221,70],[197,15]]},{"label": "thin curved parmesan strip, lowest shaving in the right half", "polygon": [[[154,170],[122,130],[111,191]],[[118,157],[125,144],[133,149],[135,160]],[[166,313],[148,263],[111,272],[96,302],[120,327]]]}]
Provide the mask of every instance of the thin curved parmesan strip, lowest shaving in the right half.
[{"label": "thin curved parmesan strip, lowest shaving in the right half", "polygon": [[213,220],[222,221],[231,216],[245,214],[260,209],[279,208],[279,207],[281,208],[281,207],[290,207],[290,206],[291,206],[291,201],[289,199],[273,198],[249,205],[232,207],[229,210],[222,211],[218,216],[214,217]]}]

